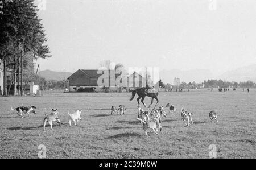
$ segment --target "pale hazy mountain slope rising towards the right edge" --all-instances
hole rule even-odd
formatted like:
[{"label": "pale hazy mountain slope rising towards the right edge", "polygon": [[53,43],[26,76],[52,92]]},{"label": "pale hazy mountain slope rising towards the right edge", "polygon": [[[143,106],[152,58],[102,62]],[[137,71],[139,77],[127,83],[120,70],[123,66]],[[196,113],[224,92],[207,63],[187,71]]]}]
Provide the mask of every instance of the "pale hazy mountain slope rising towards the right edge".
[{"label": "pale hazy mountain slope rising towards the right edge", "polygon": [[220,78],[226,81],[247,81],[251,80],[256,82],[256,64],[241,67],[233,71],[225,72]]}]

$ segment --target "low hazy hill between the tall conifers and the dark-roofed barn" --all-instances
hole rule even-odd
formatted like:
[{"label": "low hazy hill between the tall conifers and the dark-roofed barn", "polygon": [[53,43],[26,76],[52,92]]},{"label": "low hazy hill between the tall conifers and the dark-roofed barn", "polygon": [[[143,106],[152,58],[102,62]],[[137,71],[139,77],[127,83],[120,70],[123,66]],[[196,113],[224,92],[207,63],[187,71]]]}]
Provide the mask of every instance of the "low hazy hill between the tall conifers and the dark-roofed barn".
[{"label": "low hazy hill between the tall conifers and the dark-roofed barn", "polygon": [[[71,76],[73,73],[65,72],[65,79],[67,79],[69,76]],[[46,80],[56,80],[60,81],[63,80],[63,72],[53,72],[50,70],[41,71],[40,77],[46,78]]]}]

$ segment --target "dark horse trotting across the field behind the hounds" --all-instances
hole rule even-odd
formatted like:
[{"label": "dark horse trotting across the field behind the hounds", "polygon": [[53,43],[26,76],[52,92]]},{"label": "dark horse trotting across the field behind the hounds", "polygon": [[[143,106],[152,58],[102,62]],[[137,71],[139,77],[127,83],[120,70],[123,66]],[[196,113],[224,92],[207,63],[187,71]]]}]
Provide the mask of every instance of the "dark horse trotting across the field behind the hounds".
[{"label": "dark horse trotting across the field behind the hounds", "polygon": [[[150,104],[150,106],[152,105],[152,103],[153,103],[153,101],[154,101],[154,98],[156,99],[156,105],[158,104],[158,92],[154,92],[154,93],[148,93],[148,90],[150,90],[150,89],[148,89],[148,88],[139,88],[139,89],[136,89],[136,90],[133,90],[133,92],[132,92],[132,96],[131,96],[131,99],[130,99],[130,101],[132,101],[133,99],[134,99],[134,97],[135,97],[135,95],[136,95],[136,93],[138,94],[138,98],[137,98],[137,101],[138,101],[138,104],[139,104],[139,99],[141,99],[141,102],[143,103],[143,105],[145,106],[145,107],[147,107],[147,105],[144,103],[144,99],[145,99],[145,97],[146,96],[148,96],[148,97],[151,97],[152,99],[151,99],[151,104]],[[150,107],[150,106],[148,106],[148,107]]]}]

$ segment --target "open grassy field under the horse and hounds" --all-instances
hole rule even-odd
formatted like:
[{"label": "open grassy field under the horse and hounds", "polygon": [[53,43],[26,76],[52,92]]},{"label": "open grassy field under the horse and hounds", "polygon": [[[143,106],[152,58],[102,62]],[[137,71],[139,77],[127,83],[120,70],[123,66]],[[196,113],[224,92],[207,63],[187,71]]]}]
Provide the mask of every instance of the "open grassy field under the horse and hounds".
[{"label": "open grassy field under the horse and hounds", "polygon": [[[200,90],[159,94],[160,105],[192,111],[195,125],[185,127],[179,114],[168,114],[160,135],[147,137],[137,118],[131,93],[49,93],[43,97],[0,97],[0,157],[36,158],[38,146],[47,158],[208,158],[215,144],[218,158],[256,158],[256,90],[250,93]],[[150,98],[146,98],[150,103]],[[11,106],[38,107],[18,118]],[[112,105],[125,105],[126,115],[110,115]],[[43,131],[44,108],[60,111],[63,125]],[[82,121],[69,127],[67,111],[82,110]],[[209,111],[218,110],[218,123]],[[167,109],[166,109],[167,111]]]}]

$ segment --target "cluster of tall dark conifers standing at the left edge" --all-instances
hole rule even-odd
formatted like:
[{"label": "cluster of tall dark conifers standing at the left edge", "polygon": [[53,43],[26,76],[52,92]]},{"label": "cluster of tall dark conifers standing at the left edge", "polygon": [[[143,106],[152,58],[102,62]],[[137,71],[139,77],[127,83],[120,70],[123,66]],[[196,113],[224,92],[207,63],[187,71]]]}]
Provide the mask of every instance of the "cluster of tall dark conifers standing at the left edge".
[{"label": "cluster of tall dark conifers standing at the left edge", "polygon": [[14,95],[22,95],[29,82],[37,81],[34,61],[51,57],[34,0],[0,0],[0,23],[3,94],[13,87]]}]

